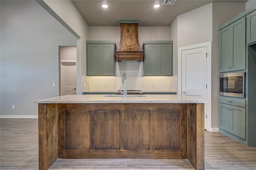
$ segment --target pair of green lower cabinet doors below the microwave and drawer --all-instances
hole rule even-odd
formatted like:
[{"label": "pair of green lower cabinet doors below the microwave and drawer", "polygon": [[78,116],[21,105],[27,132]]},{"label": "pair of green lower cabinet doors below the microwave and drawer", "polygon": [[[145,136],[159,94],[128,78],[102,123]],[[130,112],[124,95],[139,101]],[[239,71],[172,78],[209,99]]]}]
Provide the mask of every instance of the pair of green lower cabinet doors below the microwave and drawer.
[{"label": "pair of green lower cabinet doors below the microwave and drawer", "polygon": [[246,139],[246,108],[219,103],[219,128]]}]

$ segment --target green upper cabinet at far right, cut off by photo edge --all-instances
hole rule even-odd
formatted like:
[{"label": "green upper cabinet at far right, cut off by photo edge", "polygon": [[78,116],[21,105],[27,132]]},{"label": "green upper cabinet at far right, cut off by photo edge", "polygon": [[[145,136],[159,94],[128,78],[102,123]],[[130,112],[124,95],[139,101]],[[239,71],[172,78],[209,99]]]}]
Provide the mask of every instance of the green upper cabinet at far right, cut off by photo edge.
[{"label": "green upper cabinet at far right, cut off by photo edge", "polygon": [[246,23],[247,23],[247,44],[256,42],[256,11],[251,12],[246,16]]}]

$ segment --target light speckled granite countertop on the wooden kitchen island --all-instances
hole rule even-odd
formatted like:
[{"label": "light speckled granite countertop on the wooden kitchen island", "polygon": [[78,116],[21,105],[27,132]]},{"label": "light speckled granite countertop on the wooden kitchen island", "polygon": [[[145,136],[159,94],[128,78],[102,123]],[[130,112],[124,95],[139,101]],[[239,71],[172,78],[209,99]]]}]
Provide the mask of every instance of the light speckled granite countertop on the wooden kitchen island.
[{"label": "light speckled granite countertop on the wooden kitchen island", "polygon": [[42,100],[34,103],[207,103],[207,100],[191,98],[182,95],[127,95],[124,100],[122,94],[118,95],[65,95]]}]

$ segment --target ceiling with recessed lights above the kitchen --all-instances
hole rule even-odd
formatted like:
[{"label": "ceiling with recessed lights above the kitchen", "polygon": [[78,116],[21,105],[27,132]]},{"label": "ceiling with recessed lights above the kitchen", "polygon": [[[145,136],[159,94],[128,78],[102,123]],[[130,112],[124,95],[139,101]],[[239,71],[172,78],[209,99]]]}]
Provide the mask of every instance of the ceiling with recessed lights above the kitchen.
[{"label": "ceiling with recessed lights above the kitchen", "polygon": [[[170,26],[175,18],[211,2],[239,2],[248,0],[176,0],[163,5],[164,0],[72,0],[89,26],[119,26],[119,20],[139,20],[139,26]],[[104,9],[102,3],[109,4]],[[153,4],[161,4],[153,8]]]}]

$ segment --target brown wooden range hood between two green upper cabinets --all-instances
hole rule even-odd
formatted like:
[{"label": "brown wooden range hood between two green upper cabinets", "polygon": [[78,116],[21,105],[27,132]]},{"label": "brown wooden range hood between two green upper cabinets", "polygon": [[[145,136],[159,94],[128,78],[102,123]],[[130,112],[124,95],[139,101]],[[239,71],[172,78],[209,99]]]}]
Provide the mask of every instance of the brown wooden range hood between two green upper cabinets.
[{"label": "brown wooden range hood between two green upper cabinets", "polygon": [[141,61],[142,49],[138,38],[138,20],[120,20],[120,43],[116,51],[118,61]]}]

